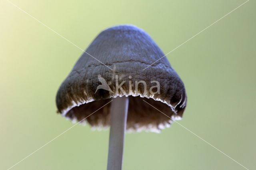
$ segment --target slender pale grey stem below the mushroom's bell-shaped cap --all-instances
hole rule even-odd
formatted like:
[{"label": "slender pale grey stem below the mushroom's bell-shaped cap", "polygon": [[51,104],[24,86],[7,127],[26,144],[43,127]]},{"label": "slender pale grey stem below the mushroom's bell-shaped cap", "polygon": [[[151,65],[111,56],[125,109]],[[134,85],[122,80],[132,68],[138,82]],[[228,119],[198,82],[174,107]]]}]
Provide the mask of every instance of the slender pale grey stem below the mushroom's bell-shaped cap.
[{"label": "slender pale grey stem below the mushroom's bell-shaped cap", "polygon": [[128,104],[129,98],[125,96],[116,97],[111,102],[107,170],[122,169]]}]

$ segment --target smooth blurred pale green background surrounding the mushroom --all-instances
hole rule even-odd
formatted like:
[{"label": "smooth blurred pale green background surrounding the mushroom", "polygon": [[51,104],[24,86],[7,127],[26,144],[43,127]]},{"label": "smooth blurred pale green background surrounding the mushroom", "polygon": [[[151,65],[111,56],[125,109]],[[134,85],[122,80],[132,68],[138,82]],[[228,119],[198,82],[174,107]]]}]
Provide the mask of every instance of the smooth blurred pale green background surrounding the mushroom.
[{"label": "smooth blurred pale green background surrounding the mushroom", "polygon": [[[134,24],[168,53],[244,0],[11,0],[82,49],[103,29]],[[178,123],[248,169],[256,169],[256,2],[250,0],[168,55],[186,85]],[[82,51],[0,0],[0,169],[73,124],[55,95]],[[161,114],[161,113],[160,113]],[[77,125],[13,170],[104,170],[109,130]],[[126,135],[124,170],[243,170],[177,123]]]}]

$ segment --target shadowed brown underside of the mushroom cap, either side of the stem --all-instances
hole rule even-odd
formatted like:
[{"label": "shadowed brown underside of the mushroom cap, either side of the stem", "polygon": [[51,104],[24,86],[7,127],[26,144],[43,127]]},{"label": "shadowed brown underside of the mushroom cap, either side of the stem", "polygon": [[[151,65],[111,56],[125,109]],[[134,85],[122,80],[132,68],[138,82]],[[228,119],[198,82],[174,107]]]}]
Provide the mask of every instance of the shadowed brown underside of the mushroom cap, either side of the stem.
[{"label": "shadowed brown underside of the mushroom cap, either side of the stem", "polygon": [[[160,130],[170,127],[173,121],[180,120],[184,108],[180,111],[173,112],[165,103],[155,101],[146,97],[128,96],[128,117],[126,129],[128,132],[142,130],[150,132],[160,132]],[[84,124],[88,122],[94,129],[104,129],[110,126],[110,99],[92,101],[82,105],[74,105],[72,109],[62,116],[72,122]],[[154,106],[154,107],[152,107]],[[100,109],[100,107],[102,107]]]}]

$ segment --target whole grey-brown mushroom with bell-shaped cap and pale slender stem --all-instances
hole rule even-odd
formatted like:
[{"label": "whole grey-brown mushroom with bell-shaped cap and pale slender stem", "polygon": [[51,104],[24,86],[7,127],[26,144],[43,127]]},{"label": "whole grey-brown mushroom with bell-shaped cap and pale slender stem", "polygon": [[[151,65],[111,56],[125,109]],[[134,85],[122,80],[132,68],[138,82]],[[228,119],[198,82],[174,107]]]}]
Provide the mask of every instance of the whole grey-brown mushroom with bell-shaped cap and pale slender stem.
[{"label": "whole grey-brown mushroom with bell-shaped cap and pale slender stem", "polygon": [[163,56],[142,29],[114,26],[95,38],[58,90],[63,117],[110,126],[108,170],[122,169],[125,131],[160,132],[182,118],[185,87]]}]

